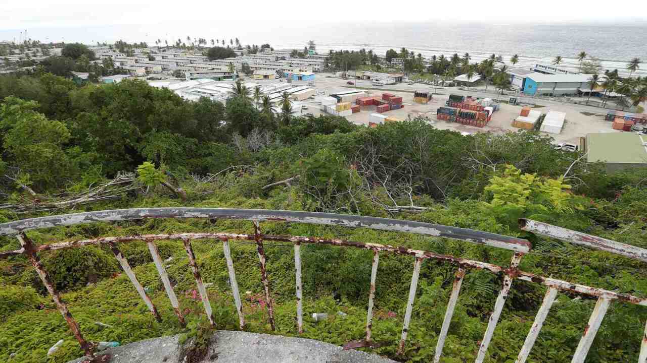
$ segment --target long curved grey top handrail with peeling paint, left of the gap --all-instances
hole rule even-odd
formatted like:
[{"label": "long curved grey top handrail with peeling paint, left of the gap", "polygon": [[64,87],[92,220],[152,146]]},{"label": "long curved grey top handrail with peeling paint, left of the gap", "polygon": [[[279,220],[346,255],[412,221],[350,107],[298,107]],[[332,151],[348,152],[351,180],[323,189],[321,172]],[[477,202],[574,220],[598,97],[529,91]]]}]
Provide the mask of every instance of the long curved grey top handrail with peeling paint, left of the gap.
[{"label": "long curved grey top handrail with peeling paint, left of the gap", "polygon": [[224,218],[251,221],[302,222],[323,225],[340,225],[343,227],[367,227],[382,231],[408,232],[428,236],[464,240],[490,247],[509,249],[528,253],[531,243],[521,238],[502,236],[501,234],[451,227],[448,225],[395,220],[390,218],[354,216],[351,214],[316,213],[299,211],[277,211],[272,209],[224,209],[224,208],[135,208],[113,209],[85,213],[46,216],[1,223],[0,236],[17,234],[30,229],[76,225],[93,222],[116,222],[124,220],[141,220],[144,218]]}]

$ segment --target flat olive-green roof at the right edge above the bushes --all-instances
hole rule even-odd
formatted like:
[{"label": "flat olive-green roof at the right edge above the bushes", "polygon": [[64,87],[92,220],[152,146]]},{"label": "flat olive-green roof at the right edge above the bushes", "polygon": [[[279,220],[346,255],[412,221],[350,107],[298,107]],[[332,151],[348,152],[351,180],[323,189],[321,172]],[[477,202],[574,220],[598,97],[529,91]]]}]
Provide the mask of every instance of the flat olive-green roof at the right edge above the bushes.
[{"label": "flat olive-green roof at the right edge above the bushes", "polygon": [[647,164],[647,136],[635,132],[587,134],[587,161]]}]

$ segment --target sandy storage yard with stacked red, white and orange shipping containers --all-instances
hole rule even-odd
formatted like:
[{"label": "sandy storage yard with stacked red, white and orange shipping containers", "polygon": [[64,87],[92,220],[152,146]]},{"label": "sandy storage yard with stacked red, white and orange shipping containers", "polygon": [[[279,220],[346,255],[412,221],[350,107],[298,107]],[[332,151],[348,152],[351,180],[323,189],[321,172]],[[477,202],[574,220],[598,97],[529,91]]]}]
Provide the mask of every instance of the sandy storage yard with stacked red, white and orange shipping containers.
[{"label": "sandy storage yard with stacked red, white and orange shipping containers", "polygon": [[[258,83],[265,82],[259,80]],[[300,84],[300,82],[295,83],[292,85]],[[479,132],[502,134],[534,129],[534,124],[540,118],[555,111],[564,114],[564,123],[560,126],[561,116],[559,116],[556,125],[544,127],[544,129],[553,132],[560,129],[560,132],[542,132],[542,134],[554,138],[555,143],[569,142],[575,145],[578,145],[581,137],[586,137],[589,133],[622,132],[620,128],[628,129],[631,127],[632,121],[634,124],[639,123],[635,120],[644,116],[619,111],[611,112],[608,115],[608,110],[605,109],[570,103],[537,101],[543,105],[510,105],[508,103],[509,96],[499,96],[501,101],[497,101],[496,94],[485,96],[478,92],[461,92],[457,88],[438,88],[439,94],[432,95],[433,88],[419,84],[399,85],[397,88],[403,88],[402,90],[391,89],[391,87],[388,90],[380,90],[371,87],[369,81],[358,81],[358,88],[345,87],[345,83],[345,79],[320,76],[314,85],[316,88],[314,93],[318,96],[304,100],[304,105],[307,105],[308,108],[302,111],[303,114],[308,113],[314,116],[338,114],[343,115],[356,125],[366,126],[421,116],[437,129],[455,130],[469,134]],[[450,100],[452,92],[455,95],[454,99]],[[459,92],[465,96],[458,94]],[[327,101],[322,99],[327,99]],[[448,101],[450,101],[449,104]],[[327,102],[327,108],[324,107],[325,102]],[[349,105],[337,106],[339,103],[349,103]],[[339,110],[338,107],[340,107]],[[461,122],[455,120],[450,122],[444,119],[446,116],[438,115],[441,107],[460,109],[462,116],[466,117],[458,117]],[[486,110],[488,107],[492,108],[489,112]],[[480,113],[487,115],[485,120]],[[527,116],[523,116],[523,114],[527,114]],[[558,113],[554,113],[554,115],[558,115]],[[622,118],[622,125],[619,120],[616,120],[617,118]],[[616,129],[613,128],[614,121],[616,121]],[[520,122],[526,125],[520,127]],[[647,117],[645,117],[644,123],[647,123]]]}]

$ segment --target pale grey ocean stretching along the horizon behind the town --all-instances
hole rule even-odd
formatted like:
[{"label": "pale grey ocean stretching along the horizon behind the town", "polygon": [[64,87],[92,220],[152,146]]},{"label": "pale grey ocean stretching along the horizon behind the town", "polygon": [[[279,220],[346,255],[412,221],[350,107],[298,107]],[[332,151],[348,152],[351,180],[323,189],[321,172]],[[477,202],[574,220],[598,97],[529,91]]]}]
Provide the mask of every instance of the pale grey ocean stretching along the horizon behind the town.
[{"label": "pale grey ocean stretching along the horizon behind the town", "polygon": [[[320,53],[328,50],[373,50],[384,55],[386,50],[402,47],[423,56],[461,56],[468,52],[472,63],[497,54],[506,63],[518,54],[516,67],[528,68],[535,63],[551,63],[555,56],[562,56],[561,67],[576,70],[576,56],[582,50],[602,60],[604,69],[617,68],[626,72],[626,63],[639,57],[645,63],[635,75],[647,76],[647,22],[626,24],[487,24],[487,23],[370,23],[331,24],[306,28],[291,28],[285,23],[259,31],[241,26],[240,30],[217,29],[217,25],[196,25],[193,28],[169,28],[162,25],[118,25],[80,28],[36,28],[28,36],[41,41],[80,41],[83,43],[113,42],[124,39],[129,42],[146,41],[155,45],[156,39],[168,40],[170,44],[186,36],[222,39],[238,37],[241,43],[270,43],[276,49],[303,48],[313,40]],[[0,30],[0,40],[19,37],[19,30]],[[223,34],[225,33],[225,34]]]}]

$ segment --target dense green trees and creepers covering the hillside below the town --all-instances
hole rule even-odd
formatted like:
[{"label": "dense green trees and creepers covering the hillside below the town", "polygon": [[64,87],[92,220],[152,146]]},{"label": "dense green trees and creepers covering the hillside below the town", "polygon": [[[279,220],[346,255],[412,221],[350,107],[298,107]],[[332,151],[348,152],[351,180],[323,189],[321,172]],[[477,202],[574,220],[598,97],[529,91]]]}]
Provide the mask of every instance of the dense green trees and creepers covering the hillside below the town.
[{"label": "dense green trees and creepers covering the hillside below the town", "polygon": [[[521,260],[524,271],[647,296],[644,264],[537,238],[516,224],[520,216],[534,218],[647,247],[645,169],[608,174],[601,165],[577,161],[578,154],[555,150],[549,138],[536,132],[461,136],[419,119],[357,127],[344,118],[291,116],[285,100],[282,112],[274,114],[269,99],[254,93],[236,85],[233,98],[223,105],[206,98],[184,101],[170,90],[136,80],[79,87],[47,73],[0,77],[0,222],[74,211],[179,206],[405,218],[529,238],[534,248]],[[112,198],[55,204],[129,175],[131,187],[118,189]],[[52,209],[38,209],[43,206]],[[411,206],[419,213],[405,213]],[[269,234],[381,242],[504,266],[512,255],[431,236],[300,223],[263,222],[261,227]],[[189,231],[250,233],[252,226],[235,220],[151,219],[28,234],[36,244],[46,244]],[[231,244],[246,329],[267,333],[256,246]],[[148,288],[162,322],[148,312],[106,246],[50,251],[41,253],[41,260],[89,340],[127,344],[182,333],[183,340],[195,342],[193,353],[199,354],[208,329],[186,251],[179,241],[157,245],[164,260],[173,257],[165,264],[186,313],[186,329],[177,324],[142,242],[119,248]],[[18,247],[14,238],[0,238],[0,249]],[[237,329],[221,244],[199,240],[193,249],[204,282],[213,284],[208,293],[217,328]],[[296,336],[293,249],[280,244],[265,249],[276,300],[276,333]],[[304,312],[334,316],[322,322],[305,316],[303,337],[333,344],[362,338],[371,252],[304,245],[302,261]],[[408,342],[404,355],[397,357],[412,266],[409,256],[380,256],[373,321],[379,347],[369,351],[403,362],[426,362],[433,357],[455,266],[431,260],[422,264]],[[500,276],[468,271],[444,362],[474,359],[500,286]],[[514,282],[487,362],[514,361],[544,293],[541,285]],[[594,304],[591,298],[560,293],[529,362],[570,362]],[[338,311],[347,315],[336,315]],[[65,362],[82,354],[23,256],[0,260],[0,316],[0,361],[12,353],[17,362]],[[645,320],[643,307],[614,302],[587,361],[636,361]],[[47,357],[47,349],[61,338],[63,346]]]}]

